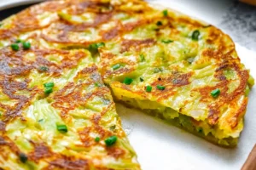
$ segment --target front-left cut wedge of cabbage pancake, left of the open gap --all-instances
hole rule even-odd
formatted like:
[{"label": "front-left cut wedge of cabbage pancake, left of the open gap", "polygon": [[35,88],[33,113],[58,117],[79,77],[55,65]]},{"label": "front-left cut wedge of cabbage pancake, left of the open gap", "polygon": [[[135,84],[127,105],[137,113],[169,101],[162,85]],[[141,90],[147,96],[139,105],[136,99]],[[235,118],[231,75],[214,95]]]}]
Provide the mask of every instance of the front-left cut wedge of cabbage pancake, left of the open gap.
[{"label": "front-left cut wedge of cabbage pancake, left of the open gap", "polygon": [[0,50],[0,169],[140,169],[90,52],[18,45]]}]

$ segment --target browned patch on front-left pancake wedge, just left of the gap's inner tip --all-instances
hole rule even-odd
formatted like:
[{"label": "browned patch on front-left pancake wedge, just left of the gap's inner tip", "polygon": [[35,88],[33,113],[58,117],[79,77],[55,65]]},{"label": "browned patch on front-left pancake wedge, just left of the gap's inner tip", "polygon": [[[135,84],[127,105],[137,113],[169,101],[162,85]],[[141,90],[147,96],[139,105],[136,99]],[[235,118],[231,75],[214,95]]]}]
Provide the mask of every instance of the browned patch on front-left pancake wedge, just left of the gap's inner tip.
[{"label": "browned patch on front-left pancake wedge, just left of the gap's inner tip", "polygon": [[[80,71],[74,78],[77,83],[69,82],[64,88],[55,93],[55,96],[53,96],[55,102],[52,105],[61,110],[62,117],[65,117],[68,111],[74,110],[79,105],[83,107],[86,106],[86,103],[90,99],[96,96],[103,99],[105,94],[109,93],[107,87],[102,87],[101,90],[96,89],[90,92],[84,91],[90,84],[102,82],[101,76],[96,71],[96,65],[84,68],[84,70]],[[90,77],[90,79],[86,77]]]}]

